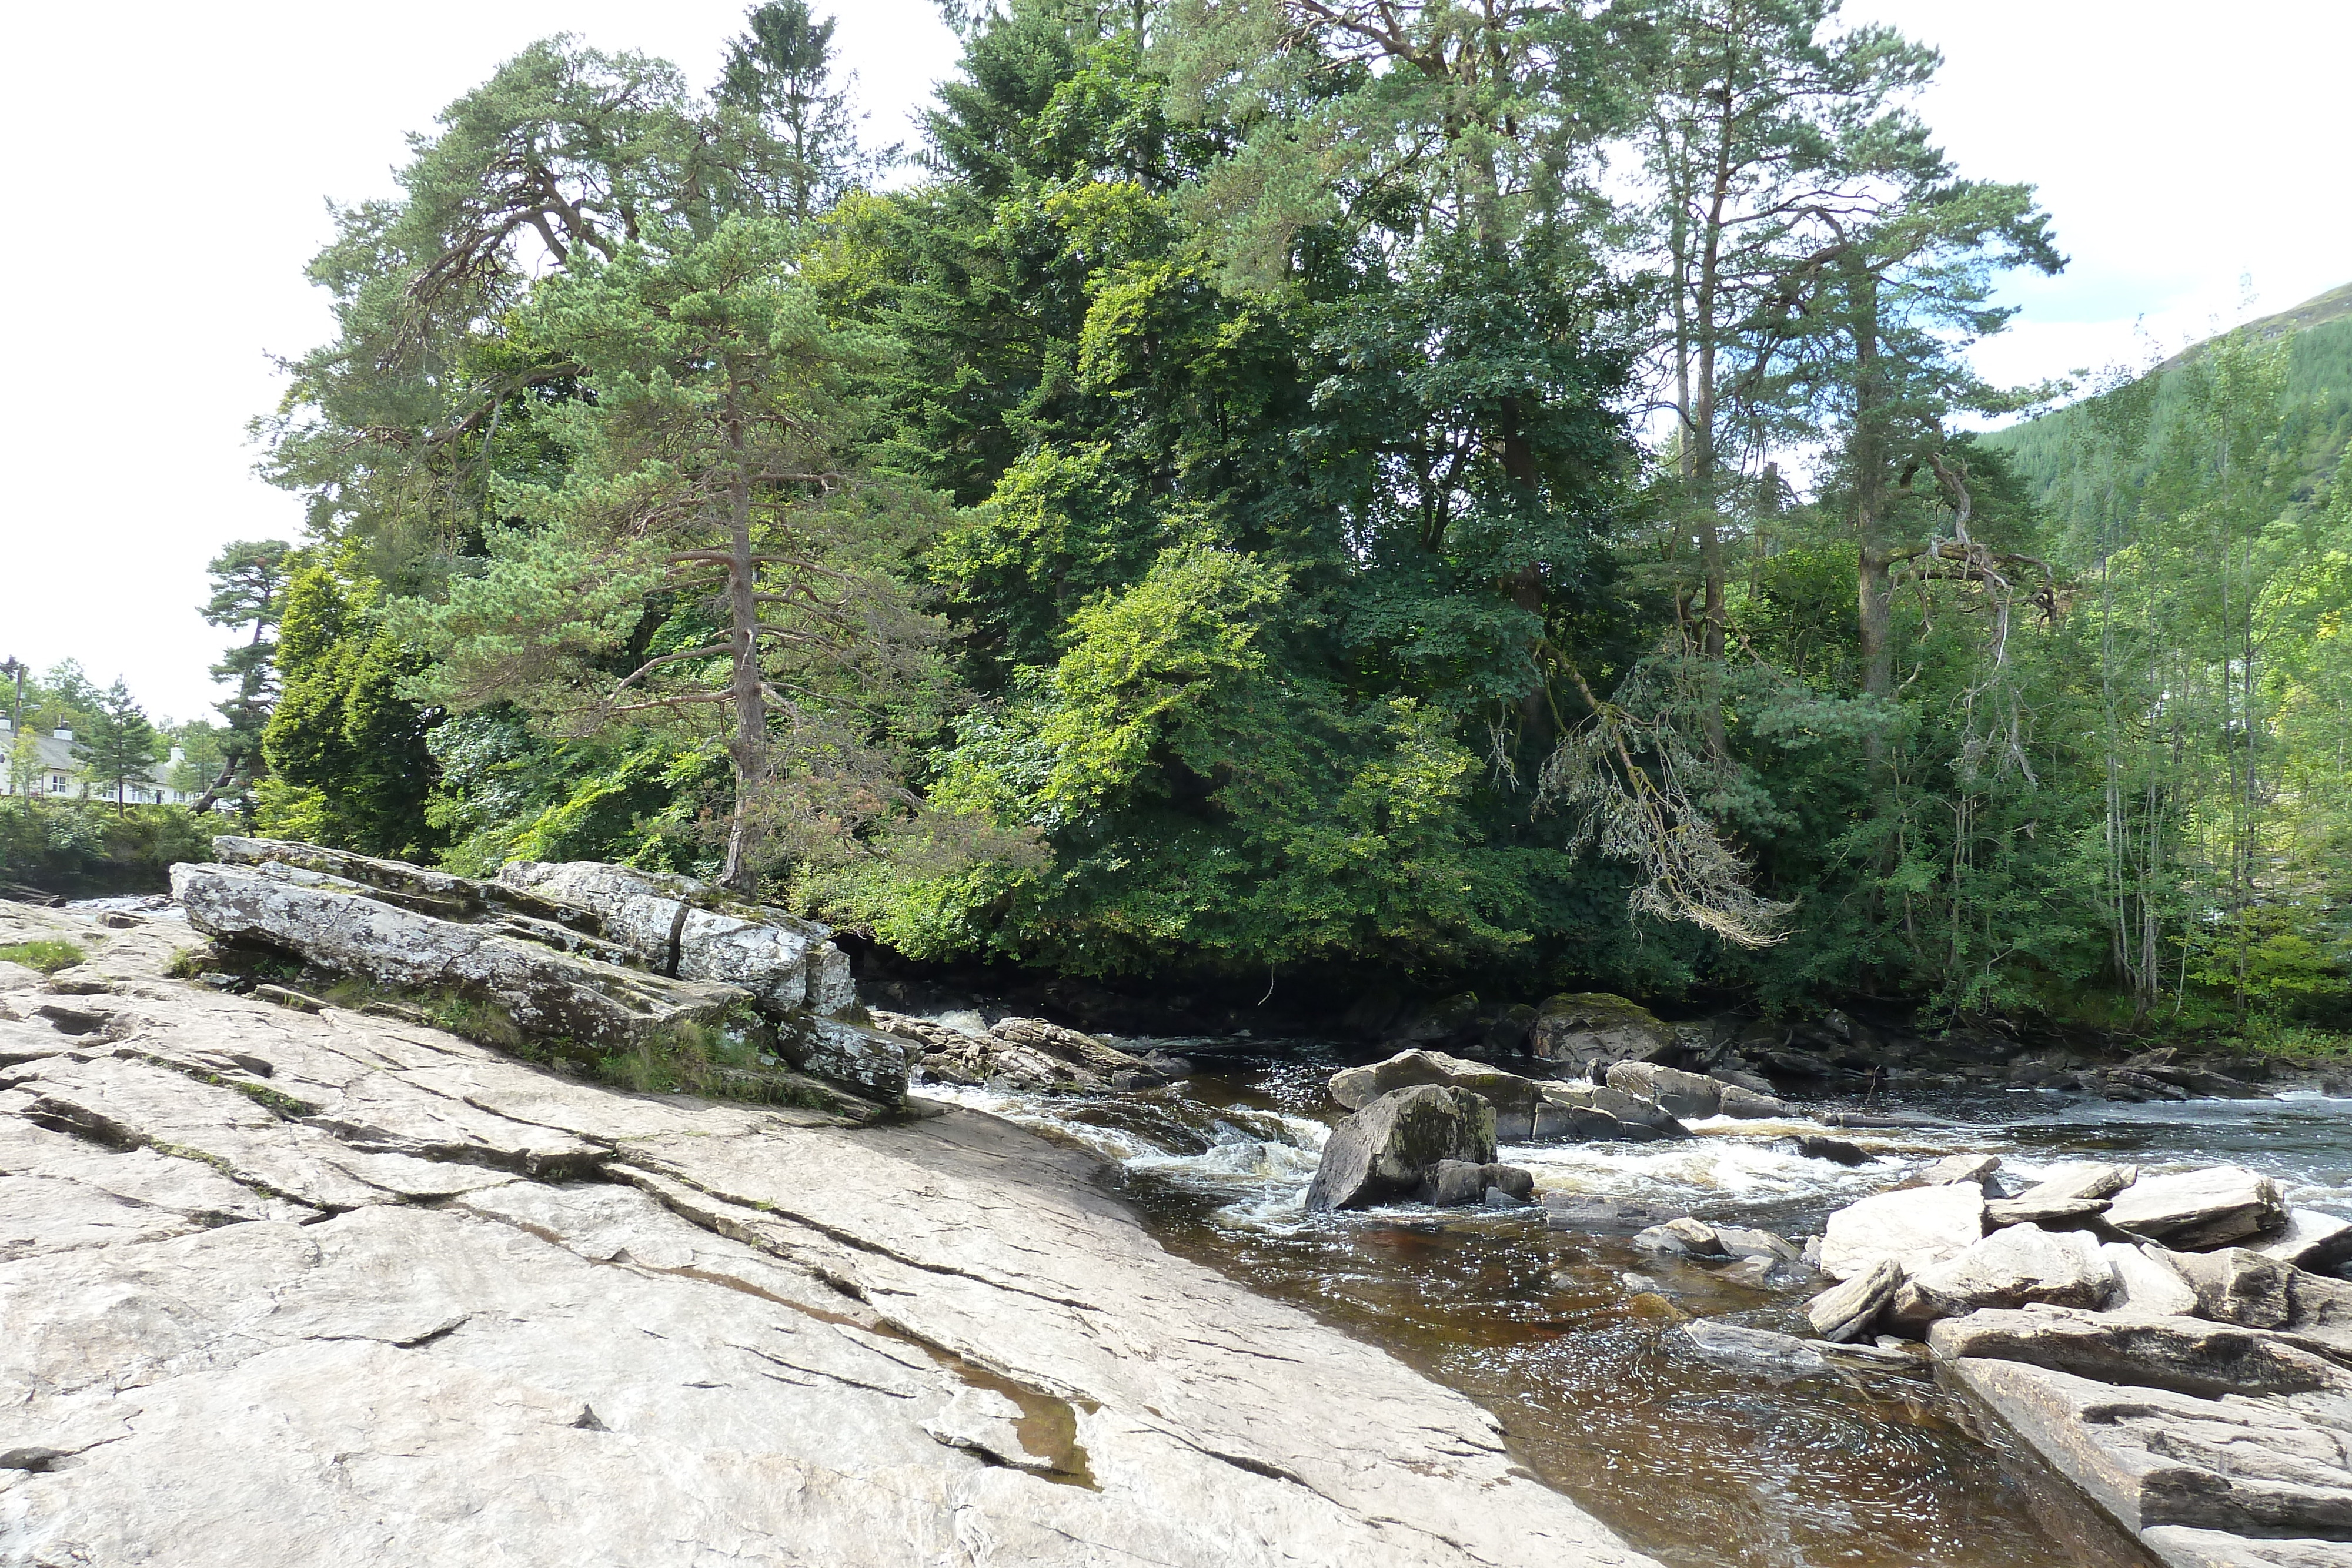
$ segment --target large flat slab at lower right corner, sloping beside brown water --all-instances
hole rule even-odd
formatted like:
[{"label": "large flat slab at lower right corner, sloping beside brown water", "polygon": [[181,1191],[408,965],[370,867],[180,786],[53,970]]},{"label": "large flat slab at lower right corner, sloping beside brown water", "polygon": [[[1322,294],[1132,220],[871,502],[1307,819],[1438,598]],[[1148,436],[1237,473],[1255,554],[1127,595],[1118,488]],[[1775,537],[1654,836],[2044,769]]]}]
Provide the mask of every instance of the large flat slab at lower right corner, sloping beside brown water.
[{"label": "large flat slab at lower right corner, sloping beside brown water", "polygon": [[2352,1540],[2345,1436],[2281,1401],[2112,1387],[2013,1361],[1950,1366],[2126,1530]]}]

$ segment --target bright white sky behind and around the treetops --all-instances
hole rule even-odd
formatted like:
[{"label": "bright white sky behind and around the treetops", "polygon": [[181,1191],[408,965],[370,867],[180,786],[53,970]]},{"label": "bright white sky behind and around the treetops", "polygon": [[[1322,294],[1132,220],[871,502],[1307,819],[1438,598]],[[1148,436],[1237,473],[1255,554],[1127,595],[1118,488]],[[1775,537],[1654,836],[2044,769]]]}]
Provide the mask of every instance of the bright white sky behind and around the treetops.
[{"label": "bright white sky behind and around the treetops", "polygon": [[[522,45],[579,33],[708,85],[743,0],[14,5],[0,19],[0,658],[78,658],[207,715],[195,616],[230,538],[296,538],[252,477],[270,355],[322,341],[325,202],[393,190],[402,136]],[[2143,360],[2352,282],[2345,0],[1849,0],[1943,47],[1926,118],[1966,174],[2042,188],[2063,277],[1980,350],[2006,381]],[[877,139],[955,61],[931,0],[847,0]],[[2251,280],[2251,282],[2241,282]]]}]

